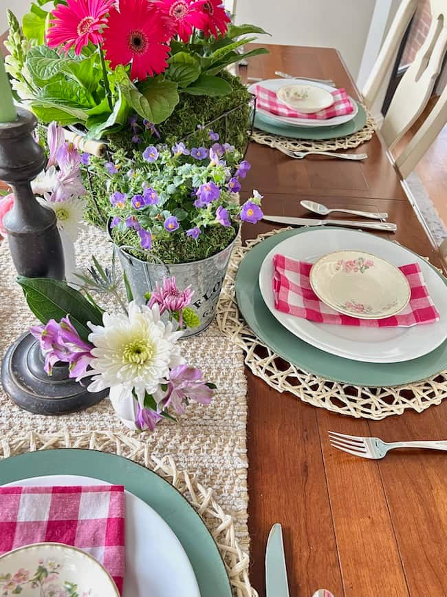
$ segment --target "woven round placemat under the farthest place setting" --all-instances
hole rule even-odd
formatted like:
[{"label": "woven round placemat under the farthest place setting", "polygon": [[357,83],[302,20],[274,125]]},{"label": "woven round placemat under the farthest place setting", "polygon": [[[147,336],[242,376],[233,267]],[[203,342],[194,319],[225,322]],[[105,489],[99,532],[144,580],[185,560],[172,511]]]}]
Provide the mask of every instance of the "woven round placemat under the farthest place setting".
[{"label": "woven round placemat under the farthest place setting", "polygon": [[336,137],[335,139],[294,139],[290,137],[283,137],[281,135],[272,135],[259,129],[253,129],[252,141],[260,143],[261,145],[268,145],[269,147],[281,147],[282,149],[289,149],[290,151],[334,151],[335,149],[353,149],[362,143],[369,141],[373,136],[377,125],[375,120],[365,107],[367,112],[367,122],[360,131],[347,135],[346,137]]}]

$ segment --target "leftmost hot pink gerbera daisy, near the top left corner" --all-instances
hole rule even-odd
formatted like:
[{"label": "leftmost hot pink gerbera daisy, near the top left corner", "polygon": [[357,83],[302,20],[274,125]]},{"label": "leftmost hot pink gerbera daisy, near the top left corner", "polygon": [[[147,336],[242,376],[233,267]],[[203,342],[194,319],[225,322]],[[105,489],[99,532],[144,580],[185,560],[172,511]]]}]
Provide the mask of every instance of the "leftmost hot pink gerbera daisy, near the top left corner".
[{"label": "leftmost hot pink gerbera daisy, near the top left corner", "polygon": [[51,27],[47,31],[50,48],[63,45],[68,52],[74,45],[78,56],[89,41],[98,45],[102,42],[102,30],[107,25],[107,12],[115,0],[67,0],[58,4],[52,13]]}]

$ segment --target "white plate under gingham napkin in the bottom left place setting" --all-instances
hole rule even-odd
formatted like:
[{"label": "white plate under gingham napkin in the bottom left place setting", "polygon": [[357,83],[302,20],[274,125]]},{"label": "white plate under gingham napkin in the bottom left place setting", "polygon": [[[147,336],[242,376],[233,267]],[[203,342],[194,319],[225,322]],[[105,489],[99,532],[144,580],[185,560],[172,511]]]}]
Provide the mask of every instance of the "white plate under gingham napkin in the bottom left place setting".
[{"label": "white plate under gingham napkin in the bottom left place setting", "polygon": [[[77,475],[50,475],[21,479],[6,486],[110,485]],[[188,556],[155,510],[125,492],[126,563],[123,597],[200,597]],[[34,596],[33,596],[34,597]],[[106,594],[100,597],[106,597]],[[107,594],[108,597],[108,594]]]}]

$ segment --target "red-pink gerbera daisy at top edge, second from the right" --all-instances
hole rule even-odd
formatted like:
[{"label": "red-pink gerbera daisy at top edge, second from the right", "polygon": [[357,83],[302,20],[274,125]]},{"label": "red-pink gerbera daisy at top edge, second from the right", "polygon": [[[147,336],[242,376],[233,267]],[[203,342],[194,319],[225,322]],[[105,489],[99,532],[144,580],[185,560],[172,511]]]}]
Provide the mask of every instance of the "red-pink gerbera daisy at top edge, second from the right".
[{"label": "red-pink gerbera daisy at top edge, second from the right", "polygon": [[156,4],[166,17],[173,33],[186,43],[193,33],[193,27],[203,29],[205,15],[203,6],[206,0],[155,0]]}]

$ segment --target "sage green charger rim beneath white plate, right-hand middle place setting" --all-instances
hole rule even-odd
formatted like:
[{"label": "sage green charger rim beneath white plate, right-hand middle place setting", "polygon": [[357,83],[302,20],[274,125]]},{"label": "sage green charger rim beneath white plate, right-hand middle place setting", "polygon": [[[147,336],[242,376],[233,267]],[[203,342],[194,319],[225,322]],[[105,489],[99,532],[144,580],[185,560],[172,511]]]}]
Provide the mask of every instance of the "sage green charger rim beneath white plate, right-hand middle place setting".
[{"label": "sage green charger rim beneath white plate, right-hand middle place setting", "polygon": [[[312,230],[328,228],[333,227],[315,227]],[[288,230],[266,238],[247,253],[239,266],[235,284],[239,311],[262,342],[270,346],[276,354],[308,373],[354,386],[400,386],[426,379],[447,369],[447,340],[431,353],[411,361],[364,363],[326,353],[284,328],[270,313],[261,296],[258,284],[259,269],[266,255],[277,244],[304,232],[309,232],[309,228]],[[447,285],[447,280],[442,276],[441,279]]]}]

